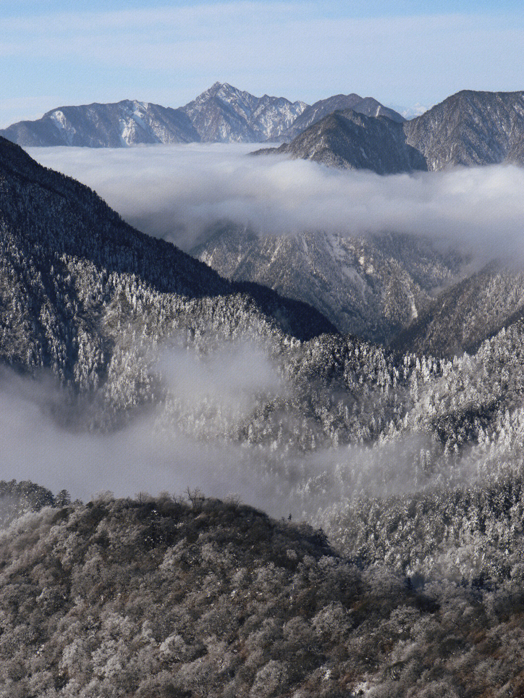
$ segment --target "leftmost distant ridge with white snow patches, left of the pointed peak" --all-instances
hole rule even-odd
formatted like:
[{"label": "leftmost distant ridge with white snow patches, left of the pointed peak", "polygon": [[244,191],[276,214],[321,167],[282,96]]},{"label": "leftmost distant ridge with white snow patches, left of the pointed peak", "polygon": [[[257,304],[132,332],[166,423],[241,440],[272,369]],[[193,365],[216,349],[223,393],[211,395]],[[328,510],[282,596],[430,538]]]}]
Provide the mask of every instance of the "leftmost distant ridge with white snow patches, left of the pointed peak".
[{"label": "leftmost distant ridge with white snow patches, left of the pointed peak", "polygon": [[23,147],[76,145],[125,147],[138,143],[188,143],[200,140],[180,109],[124,100],[115,104],[60,107],[38,121],[20,121],[0,135]]}]

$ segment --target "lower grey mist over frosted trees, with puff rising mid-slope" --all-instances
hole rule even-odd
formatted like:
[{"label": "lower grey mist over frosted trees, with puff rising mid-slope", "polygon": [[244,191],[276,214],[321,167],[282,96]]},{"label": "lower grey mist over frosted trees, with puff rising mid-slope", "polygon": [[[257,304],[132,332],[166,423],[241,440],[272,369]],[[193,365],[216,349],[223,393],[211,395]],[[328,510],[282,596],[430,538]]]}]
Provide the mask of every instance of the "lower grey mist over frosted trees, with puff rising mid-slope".
[{"label": "lower grey mist over frosted trees, with puff rising mid-slope", "polygon": [[[471,484],[478,477],[477,463],[467,455],[450,469],[422,433],[366,447],[320,439],[313,450],[299,447],[293,433],[306,432],[308,417],[293,421],[282,401],[278,408],[292,385],[260,347],[223,343],[204,355],[163,348],[150,370],[163,384],[162,397],[113,431],[78,428],[80,419],[67,420],[74,429],[64,426],[64,413],[82,414],[84,407],[48,374],[27,378],[1,371],[0,480],[32,480],[83,500],[107,490],[133,496],[199,487],[207,496],[238,496],[275,517],[292,513],[320,521],[323,511],[361,494]],[[277,412],[277,428],[269,419],[266,438],[248,443],[248,424],[267,406]],[[423,450],[428,458],[433,450],[426,471],[419,467]]]}]

